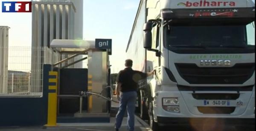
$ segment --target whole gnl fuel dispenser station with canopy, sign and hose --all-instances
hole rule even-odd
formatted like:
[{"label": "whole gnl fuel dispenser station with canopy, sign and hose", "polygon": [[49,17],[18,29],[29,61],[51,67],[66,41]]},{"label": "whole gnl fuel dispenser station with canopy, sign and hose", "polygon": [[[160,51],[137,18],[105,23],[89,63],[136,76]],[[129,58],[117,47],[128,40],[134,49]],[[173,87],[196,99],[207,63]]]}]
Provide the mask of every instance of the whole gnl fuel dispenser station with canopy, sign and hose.
[{"label": "whole gnl fuel dispenser station with canopy, sign and hose", "polygon": [[[51,42],[50,47],[53,50],[61,55],[69,55],[67,59],[52,65],[52,70],[58,72],[56,105],[58,122],[71,117],[73,120],[80,118],[74,120],[76,122],[85,120],[81,118],[110,118],[109,109],[113,94],[109,83],[111,44],[111,39],[95,41],[55,39]],[[79,55],[87,55],[87,57],[67,63]],[[85,59],[88,60],[88,69],[67,68]],[[61,67],[60,65],[64,62],[66,65]],[[72,120],[64,121],[72,122]],[[48,125],[54,125],[54,123],[48,123]]]}]

